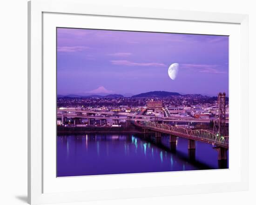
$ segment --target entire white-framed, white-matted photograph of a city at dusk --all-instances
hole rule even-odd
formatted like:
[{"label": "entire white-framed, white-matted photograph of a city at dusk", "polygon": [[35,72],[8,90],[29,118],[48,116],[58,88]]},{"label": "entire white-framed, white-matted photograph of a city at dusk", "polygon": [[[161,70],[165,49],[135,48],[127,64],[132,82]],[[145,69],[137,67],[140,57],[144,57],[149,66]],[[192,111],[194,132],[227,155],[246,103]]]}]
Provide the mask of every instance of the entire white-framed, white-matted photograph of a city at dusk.
[{"label": "entire white-framed, white-matted photograph of a city at dusk", "polygon": [[30,204],[248,188],[248,16],[32,0]]}]

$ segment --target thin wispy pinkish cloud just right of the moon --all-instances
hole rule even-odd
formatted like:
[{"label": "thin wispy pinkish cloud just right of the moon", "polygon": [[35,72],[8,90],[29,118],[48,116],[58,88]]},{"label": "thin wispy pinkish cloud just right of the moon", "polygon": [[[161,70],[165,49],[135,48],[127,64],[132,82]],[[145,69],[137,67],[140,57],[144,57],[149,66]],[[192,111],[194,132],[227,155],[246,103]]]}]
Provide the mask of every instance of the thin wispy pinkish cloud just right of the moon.
[{"label": "thin wispy pinkish cloud just right of the moon", "polygon": [[221,74],[225,71],[218,70],[217,64],[181,64],[181,68],[192,69],[201,73]]}]

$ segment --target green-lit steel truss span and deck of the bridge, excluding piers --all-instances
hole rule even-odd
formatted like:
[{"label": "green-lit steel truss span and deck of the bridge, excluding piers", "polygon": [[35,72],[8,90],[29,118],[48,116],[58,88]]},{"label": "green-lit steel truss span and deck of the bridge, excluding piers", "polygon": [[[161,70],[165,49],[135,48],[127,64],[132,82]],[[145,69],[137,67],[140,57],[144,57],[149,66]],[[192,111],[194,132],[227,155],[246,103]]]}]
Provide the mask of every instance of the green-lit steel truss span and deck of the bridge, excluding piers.
[{"label": "green-lit steel truss span and deck of the bridge, excluding piers", "polygon": [[174,135],[178,137],[184,137],[193,141],[202,141],[215,145],[216,147],[229,148],[229,136],[221,136],[218,133],[213,133],[209,130],[183,128],[177,126],[171,126],[164,123],[157,122],[145,122],[134,123],[135,126],[141,127],[145,130],[153,130],[158,133],[164,133],[168,135]]}]

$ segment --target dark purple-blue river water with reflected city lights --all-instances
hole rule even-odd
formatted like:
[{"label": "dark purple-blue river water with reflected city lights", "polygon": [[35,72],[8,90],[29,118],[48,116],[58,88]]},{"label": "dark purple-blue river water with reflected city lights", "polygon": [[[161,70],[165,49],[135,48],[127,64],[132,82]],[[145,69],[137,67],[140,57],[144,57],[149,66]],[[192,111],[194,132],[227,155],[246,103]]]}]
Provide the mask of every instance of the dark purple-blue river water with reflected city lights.
[{"label": "dark purple-blue river water with reflected city lights", "polygon": [[196,142],[195,160],[189,159],[188,141],[177,138],[171,151],[168,136],[61,135],[57,137],[57,176],[146,173],[218,168],[217,152]]}]

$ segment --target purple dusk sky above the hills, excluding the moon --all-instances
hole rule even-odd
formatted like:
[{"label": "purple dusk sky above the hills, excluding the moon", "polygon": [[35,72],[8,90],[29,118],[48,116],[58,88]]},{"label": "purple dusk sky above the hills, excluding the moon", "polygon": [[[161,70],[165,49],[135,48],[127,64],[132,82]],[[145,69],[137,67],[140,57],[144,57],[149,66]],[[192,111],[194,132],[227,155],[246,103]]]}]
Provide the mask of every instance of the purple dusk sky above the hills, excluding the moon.
[{"label": "purple dusk sky above the hills, excluding the moon", "polygon": [[[172,80],[168,67],[178,63]],[[229,37],[57,29],[57,93],[229,91]]]}]

